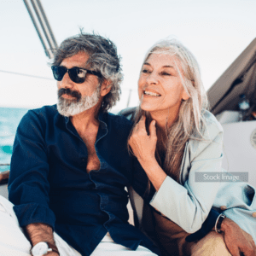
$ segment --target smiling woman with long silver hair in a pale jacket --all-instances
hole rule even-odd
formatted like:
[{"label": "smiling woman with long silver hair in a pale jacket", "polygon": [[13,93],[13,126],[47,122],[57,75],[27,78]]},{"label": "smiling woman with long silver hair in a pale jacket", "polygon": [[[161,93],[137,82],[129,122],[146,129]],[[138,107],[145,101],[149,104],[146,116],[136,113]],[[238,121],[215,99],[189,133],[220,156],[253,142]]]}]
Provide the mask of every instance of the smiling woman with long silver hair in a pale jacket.
[{"label": "smiling woman with long silver hair in a pale jacket", "polygon": [[[203,255],[201,241],[195,244],[185,238],[199,230],[216,207],[246,231],[237,241],[251,239],[250,255],[255,255],[255,190],[246,183],[207,182],[223,172],[223,130],[207,111],[207,95],[195,57],[177,41],[155,44],[143,62],[138,94],[141,104],[129,145],[148,175],[148,188],[156,190],[151,207],[143,209],[148,236],[158,243],[163,255]],[[223,219],[221,216],[218,224]],[[222,229],[225,227],[223,224]],[[223,241],[217,231],[221,230],[211,232],[204,241],[215,236]],[[230,253],[239,255],[232,242],[236,243],[226,240]],[[219,255],[230,253],[223,247]]]}]

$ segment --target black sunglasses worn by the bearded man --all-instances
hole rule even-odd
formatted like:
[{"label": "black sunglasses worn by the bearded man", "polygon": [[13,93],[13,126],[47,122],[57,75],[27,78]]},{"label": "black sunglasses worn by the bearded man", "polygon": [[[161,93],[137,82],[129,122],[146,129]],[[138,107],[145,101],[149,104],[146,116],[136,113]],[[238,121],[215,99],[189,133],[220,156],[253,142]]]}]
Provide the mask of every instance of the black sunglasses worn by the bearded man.
[{"label": "black sunglasses worn by the bearded man", "polygon": [[96,71],[88,70],[80,67],[73,67],[67,69],[67,67],[53,66],[51,67],[52,73],[57,81],[61,81],[65,75],[68,73],[69,78],[76,84],[84,83],[86,73],[96,75],[98,78],[102,78],[102,74]]}]

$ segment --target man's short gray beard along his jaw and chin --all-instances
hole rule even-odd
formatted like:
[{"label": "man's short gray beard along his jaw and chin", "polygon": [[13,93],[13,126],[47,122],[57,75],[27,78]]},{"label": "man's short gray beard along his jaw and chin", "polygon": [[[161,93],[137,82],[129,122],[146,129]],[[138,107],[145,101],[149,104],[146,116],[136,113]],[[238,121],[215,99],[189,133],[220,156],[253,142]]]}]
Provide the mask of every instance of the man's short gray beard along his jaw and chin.
[{"label": "man's short gray beard along his jaw and chin", "polygon": [[96,105],[101,96],[101,85],[99,84],[91,96],[84,96],[78,100],[67,100],[62,97],[58,98],[57,109],[61,115],[73,116],[82,113]]}]

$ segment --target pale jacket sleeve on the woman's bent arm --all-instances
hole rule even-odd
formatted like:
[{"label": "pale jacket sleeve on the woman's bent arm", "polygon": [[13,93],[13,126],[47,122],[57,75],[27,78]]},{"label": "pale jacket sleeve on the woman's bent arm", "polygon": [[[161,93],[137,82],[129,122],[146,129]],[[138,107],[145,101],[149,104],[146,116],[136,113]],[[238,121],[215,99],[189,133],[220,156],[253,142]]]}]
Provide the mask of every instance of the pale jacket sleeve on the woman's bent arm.
[{"label": "pale jacket sleeve on the woman's bent arm", "polygon": [[[220,185],[223,130],[220,125],[212,124],[206,133],[204,141],[188,143],[183,168],[188,168],[189,175],[185,183],[181,185],[166,177],[150,203],[188,233],[201,229]],[[199,175],[201,180],[195,180]]]}]

